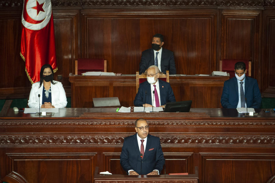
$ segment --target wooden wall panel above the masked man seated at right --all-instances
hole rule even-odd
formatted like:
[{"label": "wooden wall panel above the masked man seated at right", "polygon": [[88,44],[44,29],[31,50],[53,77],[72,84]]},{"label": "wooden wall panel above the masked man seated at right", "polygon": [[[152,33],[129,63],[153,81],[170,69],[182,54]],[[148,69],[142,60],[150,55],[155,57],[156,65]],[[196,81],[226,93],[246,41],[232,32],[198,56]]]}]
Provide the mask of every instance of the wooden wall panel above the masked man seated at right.
[{"label": "wooden wall panel above the masked man seated at right", "polygon": [[[247,59],[252,61],[252,77],[258,79],[261,56],[261,11],[222,11],[221,59]],[[234,68],[232,68],[234,69]],[[259,78],[260,82],[260,78]]]}]

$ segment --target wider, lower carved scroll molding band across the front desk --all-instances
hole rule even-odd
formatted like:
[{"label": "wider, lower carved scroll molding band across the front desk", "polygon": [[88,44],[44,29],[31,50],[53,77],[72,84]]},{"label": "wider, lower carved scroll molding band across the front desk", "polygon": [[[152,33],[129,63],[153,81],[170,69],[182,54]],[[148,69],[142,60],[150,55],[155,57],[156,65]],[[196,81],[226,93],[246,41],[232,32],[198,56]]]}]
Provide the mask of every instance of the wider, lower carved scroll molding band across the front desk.
[{"label": "wider, lower carved scroll molding band across the front desk", "polygon": [[[275,136],[256,135],[156,135],[165,144],[275,145]],[[13,144],[123,144],[127,135],[1,135],[0,145]]]}]

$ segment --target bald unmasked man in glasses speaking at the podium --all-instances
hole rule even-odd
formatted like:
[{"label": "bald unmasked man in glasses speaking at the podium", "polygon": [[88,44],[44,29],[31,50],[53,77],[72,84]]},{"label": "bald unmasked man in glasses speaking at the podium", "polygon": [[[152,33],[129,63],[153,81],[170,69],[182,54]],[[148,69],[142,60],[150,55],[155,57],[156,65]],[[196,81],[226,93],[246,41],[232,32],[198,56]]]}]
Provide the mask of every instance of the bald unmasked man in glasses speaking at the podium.
[{"label": "bald unmasked man in glasses speaking at the podium", "polygon": [[158,175],[164,165],[158,137],[149,135],[145,119],[135,121],[135,135],[126,137],[120,155],[120,164],[129,175]]}]

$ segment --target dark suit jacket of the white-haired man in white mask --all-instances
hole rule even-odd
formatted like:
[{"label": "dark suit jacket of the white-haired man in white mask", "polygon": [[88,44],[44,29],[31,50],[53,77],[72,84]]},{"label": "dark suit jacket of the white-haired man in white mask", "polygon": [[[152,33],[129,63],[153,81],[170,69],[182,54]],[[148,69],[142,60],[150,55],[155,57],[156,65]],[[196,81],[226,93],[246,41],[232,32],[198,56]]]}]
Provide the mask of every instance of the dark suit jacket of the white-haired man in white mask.
[{"label": "dark suit jacket of the white-haired man in white mask", "polygon": [[[165,105],[167,102],[176,102],[173,90],[168,82],[158,80],[160,87],[160,105]],[[145,95],[145,91],[147,94]],[[137,95],[135,95],[134,105],[137,107],[142,107],[144,103],[152,105],[152,95],[151,85],[148,81],[140,83]]]}]

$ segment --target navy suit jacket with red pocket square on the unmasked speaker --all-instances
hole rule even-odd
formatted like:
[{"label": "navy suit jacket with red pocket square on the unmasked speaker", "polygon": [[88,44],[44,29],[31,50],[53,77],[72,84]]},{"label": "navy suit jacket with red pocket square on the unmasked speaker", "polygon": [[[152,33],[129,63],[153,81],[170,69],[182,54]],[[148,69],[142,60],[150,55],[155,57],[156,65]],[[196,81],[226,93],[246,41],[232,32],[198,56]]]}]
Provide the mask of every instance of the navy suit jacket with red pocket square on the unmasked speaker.
[{"label": "navy suit jacket with red pocket square on the unmasked speaker", "polygon": [[164,165],[160,139],[148,134],[142,159],[142,172],[140,172],[141,158],[137,143],[137,134],[126,137],[121,150],[120,164],[127,174],[128,170],[134,170],[140,175],[146,175],[153,170],[158,170],[160,173]]}]

